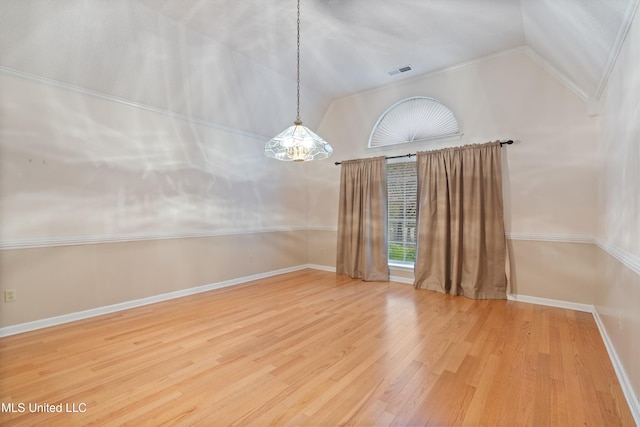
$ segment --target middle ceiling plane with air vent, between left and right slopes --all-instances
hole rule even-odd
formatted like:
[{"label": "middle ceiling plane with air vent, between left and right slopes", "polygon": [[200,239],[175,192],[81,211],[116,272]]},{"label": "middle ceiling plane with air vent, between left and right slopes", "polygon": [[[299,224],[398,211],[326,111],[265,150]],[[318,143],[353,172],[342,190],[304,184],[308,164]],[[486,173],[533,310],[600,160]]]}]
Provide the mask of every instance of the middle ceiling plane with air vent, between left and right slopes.
[{"label": "middle ceiling plane with air vent, between left and right slopes", "polygon": [[[295,0],[141,1],[295,78]],[[525,44],[519,0],[302,0],[301,26],[303,82],[332,98]]]}]

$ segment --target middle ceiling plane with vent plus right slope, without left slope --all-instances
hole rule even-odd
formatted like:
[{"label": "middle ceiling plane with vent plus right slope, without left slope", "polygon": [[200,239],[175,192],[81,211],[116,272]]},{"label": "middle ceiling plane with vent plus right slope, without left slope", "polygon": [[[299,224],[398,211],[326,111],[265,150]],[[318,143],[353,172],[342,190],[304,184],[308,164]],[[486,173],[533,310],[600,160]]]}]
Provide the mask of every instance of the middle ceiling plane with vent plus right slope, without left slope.
[{"label": "middle ceiling plane with vent plus right slope, without left slope", "polygon": [[[294,77],[295,0],[140,1]],[[632,3],[303,0],[304,83],[337,97],[528,46],[591,96]]]}]

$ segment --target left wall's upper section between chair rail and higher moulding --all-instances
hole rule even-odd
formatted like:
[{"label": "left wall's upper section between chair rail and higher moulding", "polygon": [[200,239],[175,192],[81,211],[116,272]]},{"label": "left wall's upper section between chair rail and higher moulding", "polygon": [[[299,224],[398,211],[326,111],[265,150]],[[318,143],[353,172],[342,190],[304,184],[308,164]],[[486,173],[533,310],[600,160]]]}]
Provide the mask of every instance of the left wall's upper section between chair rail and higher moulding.
[{"label": "left wall's upper section between chair rail and higher moulding", "polygon": [[303,169],[263,139],[18,77],[0,92],[3,243],[305,225]]}]

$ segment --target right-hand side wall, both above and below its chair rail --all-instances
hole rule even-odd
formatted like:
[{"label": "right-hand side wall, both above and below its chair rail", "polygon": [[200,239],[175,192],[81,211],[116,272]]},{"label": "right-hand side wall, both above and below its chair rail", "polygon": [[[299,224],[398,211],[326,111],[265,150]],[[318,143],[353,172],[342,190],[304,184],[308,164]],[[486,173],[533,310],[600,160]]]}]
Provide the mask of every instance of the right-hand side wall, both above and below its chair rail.
[{"label": "right-hand side wall, both above and below its chair rail", "polygon": [[640,13],[603,95],[595,307],[640,420]]}]

